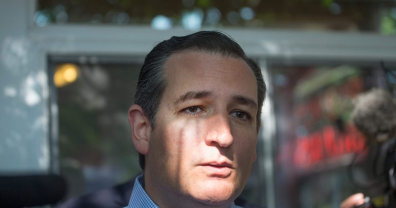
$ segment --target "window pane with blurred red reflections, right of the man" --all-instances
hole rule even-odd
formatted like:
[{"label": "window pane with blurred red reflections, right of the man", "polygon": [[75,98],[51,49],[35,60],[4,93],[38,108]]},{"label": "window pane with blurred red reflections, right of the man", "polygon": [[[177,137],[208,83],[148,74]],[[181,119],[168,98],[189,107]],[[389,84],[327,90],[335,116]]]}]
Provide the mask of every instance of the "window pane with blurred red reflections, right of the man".
[{"label": "window pane with blurred red reflections, right of the man", "polygon": [[352,100],[374,86],[395,93],[394,77],[379,63],[272,64],[270,72],[277,207],[338,207],[362,191],[348,172],[354,153],[365,147],[350,119]]}]

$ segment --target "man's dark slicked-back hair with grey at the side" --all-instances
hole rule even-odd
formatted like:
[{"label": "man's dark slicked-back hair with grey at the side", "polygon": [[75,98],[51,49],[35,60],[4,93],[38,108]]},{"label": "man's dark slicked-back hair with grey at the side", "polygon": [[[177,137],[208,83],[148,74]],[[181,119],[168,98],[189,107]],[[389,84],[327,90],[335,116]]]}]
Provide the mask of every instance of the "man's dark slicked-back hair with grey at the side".
[{"label": "man's dark slicked-back hair with grey at the side", "polygon": [[[265,99],[265,83],[258,64],[246,56],[243,49],[229,35],[220,31],[199,31],[185,36],[172,36],[152,48],[146,55],[136,86],[135,104],[142,107],[151,129],[155,128],[155,115],[165,87],[165,62],[171,54],[197,51],[242,58],[251,68],[257,80],[257,132],[260,126],[261,107]],[[144,170],[144,155],[139,153],[139,164]]]}]

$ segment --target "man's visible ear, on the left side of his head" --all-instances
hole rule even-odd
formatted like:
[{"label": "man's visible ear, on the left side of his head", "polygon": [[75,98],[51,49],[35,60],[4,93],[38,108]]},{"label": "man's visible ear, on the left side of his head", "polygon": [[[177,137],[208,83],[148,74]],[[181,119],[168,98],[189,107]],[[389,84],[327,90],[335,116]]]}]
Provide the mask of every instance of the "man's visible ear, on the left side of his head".
[{"label": "man's visible ear, on the left side of his head", "polygon": [[138,152],[146,154],[151,126],[140,105],[133,104],[129,107],[128,119],[132,129],[133,145]]}]

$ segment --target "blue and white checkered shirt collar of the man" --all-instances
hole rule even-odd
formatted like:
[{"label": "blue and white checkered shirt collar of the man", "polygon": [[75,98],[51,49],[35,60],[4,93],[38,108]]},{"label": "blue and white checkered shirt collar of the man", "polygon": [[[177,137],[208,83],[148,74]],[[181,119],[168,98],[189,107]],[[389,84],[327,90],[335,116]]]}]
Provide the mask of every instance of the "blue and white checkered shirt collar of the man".
[{"label": "blue and white checkered shirt collar of the man", "polygon": [[[124,208],[159,208],[158,205],[155,204],[154,201],[147,195],[145,190],[143,189],[143,175],[139,175],[136,177],[132,194],[130,194],[129,204]],[[242,208],[240,206],[232,203],[229,208]]]}]

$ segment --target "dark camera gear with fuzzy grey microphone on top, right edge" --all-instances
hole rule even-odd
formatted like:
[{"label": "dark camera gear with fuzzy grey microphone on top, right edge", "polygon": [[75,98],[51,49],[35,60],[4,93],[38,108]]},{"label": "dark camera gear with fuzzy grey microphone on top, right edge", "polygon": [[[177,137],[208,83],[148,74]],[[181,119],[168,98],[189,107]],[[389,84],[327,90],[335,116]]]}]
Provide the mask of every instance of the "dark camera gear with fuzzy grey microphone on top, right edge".
[{"label": "dark camera gear with fuzzy grey microphone on top, right edge", "polygon": [[[365,154],[365,162],[361,163],[360,170],[362,171],[358,174],[359,179],[354,180],[354,183],[366,189],[368,195],[375,196],[377,199],[387,197],[388,200],[383,205],[393,208],[392,191],[396,188],[396,175],[391,170],[394,170],[396,164],[396,139],[394,139],[396,136],[396,99],[384,89],[372,88],[358,95],[353,103],[352,122],[370,144]],[[349,171],[352,174],[351,169]],[[366,200],[357,207],[375,207],[375,205],[378,204]]]}]

